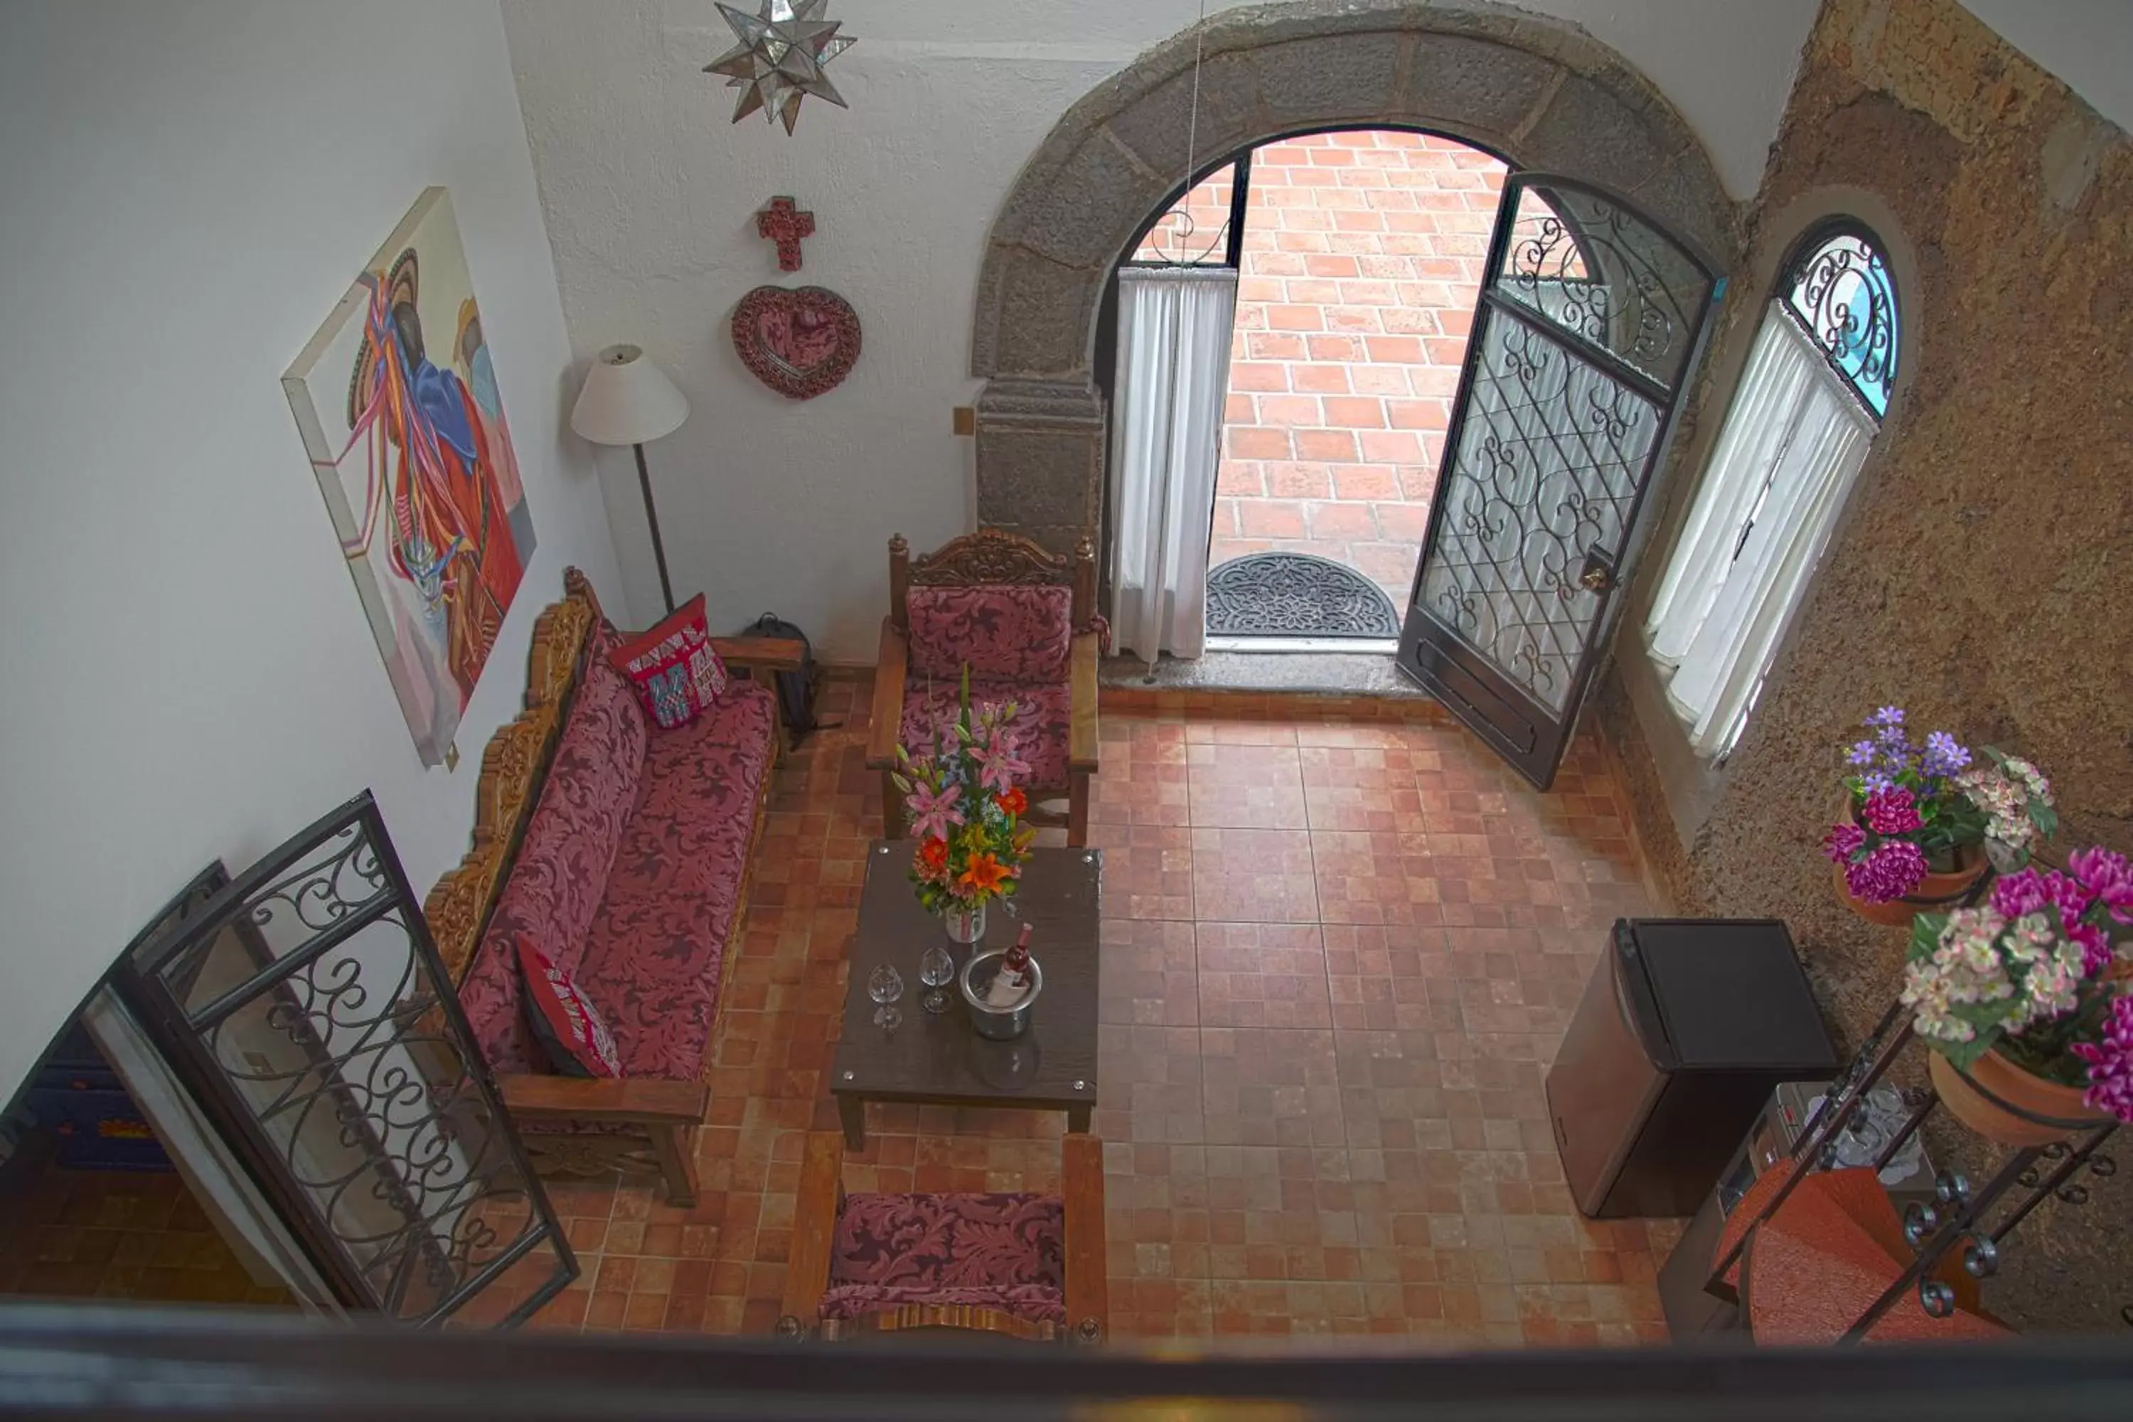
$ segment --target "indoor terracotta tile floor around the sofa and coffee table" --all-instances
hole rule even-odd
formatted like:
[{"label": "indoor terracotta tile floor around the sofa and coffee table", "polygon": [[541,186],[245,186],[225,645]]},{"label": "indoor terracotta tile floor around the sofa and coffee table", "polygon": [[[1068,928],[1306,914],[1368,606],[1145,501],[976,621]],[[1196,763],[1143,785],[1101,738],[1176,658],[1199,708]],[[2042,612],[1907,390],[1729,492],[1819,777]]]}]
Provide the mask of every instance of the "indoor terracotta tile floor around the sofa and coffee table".
[{"label": "indoor terracotta tile floor around the sofa and coffee table", "polygon": [[[1378,714],[1395,718],[1378,718]],[[866,682],[776,787],[710,1072],[702,1200],[557,1183],[584,1277],[538,1324],[770,1330],[804,1134],[834,1130]],[[1536,795],[1433,708],[1105,701],[1101,1104],[1118,1339],[1664,1339],[1672,1222],[1576,1215],[1542,1070],[1647,910],[1583,738]],[[1045,1190],[1058,1115],[872,1106],[855,1190]],[[497,1300],[501,1305],[501,1300]]]}]

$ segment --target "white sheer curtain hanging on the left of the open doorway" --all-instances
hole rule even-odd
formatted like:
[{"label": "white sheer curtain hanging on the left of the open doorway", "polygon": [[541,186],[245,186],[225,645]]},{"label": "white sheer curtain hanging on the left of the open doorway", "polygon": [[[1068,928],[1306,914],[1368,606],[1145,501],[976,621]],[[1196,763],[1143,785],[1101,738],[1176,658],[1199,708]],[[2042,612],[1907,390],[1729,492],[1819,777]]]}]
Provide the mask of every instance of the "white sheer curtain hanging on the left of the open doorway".
[{"label": "white sheer curtain hanging on the left of the open doorway", "polygon": [[1111,407],[1111,635],[1154,665],[1207,644],[1207,537],[1237,273],[1118,273]]}]

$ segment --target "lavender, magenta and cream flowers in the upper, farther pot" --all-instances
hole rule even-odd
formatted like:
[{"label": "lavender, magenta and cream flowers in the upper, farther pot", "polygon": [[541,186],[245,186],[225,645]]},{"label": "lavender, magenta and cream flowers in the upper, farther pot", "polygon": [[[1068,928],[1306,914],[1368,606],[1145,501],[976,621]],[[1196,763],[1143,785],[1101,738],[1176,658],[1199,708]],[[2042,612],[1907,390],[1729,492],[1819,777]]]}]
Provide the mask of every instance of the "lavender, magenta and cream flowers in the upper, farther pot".
[{"label": "lavender, magenta and cream flowers in the upper, farther pot", "polygon": [[1845,753],[1851,819],[1830,827],[1822,853],[1856,900],[1901,900],[1928,872],[1954,872],[1958,851],[1984,844],[1994,863],[2028,863],[2031,844],[2058,829],[2052,785],[2028,761],[1982,746],[1977,763],[1947,731],[1913,742],[1901,706],[1866,716],[1869,736]]}]

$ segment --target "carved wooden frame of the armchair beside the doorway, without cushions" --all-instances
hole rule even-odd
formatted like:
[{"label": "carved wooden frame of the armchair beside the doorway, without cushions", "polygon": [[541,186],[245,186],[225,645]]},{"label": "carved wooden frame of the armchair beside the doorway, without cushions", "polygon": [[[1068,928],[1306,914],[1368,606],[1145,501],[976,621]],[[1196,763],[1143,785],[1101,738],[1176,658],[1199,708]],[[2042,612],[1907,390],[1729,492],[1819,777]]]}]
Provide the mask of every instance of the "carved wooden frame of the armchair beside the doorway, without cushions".
[{"label": "carved wooden frame of the armchair beside the doorway, without cushions", "polygon": [[[968,588],[983,584],[1071,586],[1073,652],[1069,659],[1071,725],[1066,738],[1066,785],[1028,787],[1032,825],[1066,829],[1066,844],[1088,844],[1088,791],[1096,774],[1096,667],[1103,633],[1096,629],[1096,548],[1075,544],[1073,556],[1056,556],[1035,542],[979,529],[949,539],[930,554],[911,556],[902,533],[889,539],[889,616],[881,620],[881,655],[875,663],[875,706],[868,716],[866,765],[881,772],[881,823],[889,840],[904,838],[902,795],[889,774],[904,721],[904,686],[911,667],[911,588]],[[1066,799],[1066,812],[1045,802]]]}]

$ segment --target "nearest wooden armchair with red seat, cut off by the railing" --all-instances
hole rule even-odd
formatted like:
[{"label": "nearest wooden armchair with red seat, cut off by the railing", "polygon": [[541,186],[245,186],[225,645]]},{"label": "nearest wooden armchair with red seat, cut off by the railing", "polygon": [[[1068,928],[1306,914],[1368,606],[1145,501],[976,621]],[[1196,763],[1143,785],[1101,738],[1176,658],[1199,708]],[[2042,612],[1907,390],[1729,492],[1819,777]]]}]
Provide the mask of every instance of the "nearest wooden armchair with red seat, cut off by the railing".
[{"label": "nearest wooden armchair with red seat, cut off by the railing", "polygon": [[1098,1343],[1109,1332],[1103,1141],[1060,1138],[1058,1196],[847,1196],[843,1151],[836,1132],[808,1136],[781,1337],[977,1332]]}]

